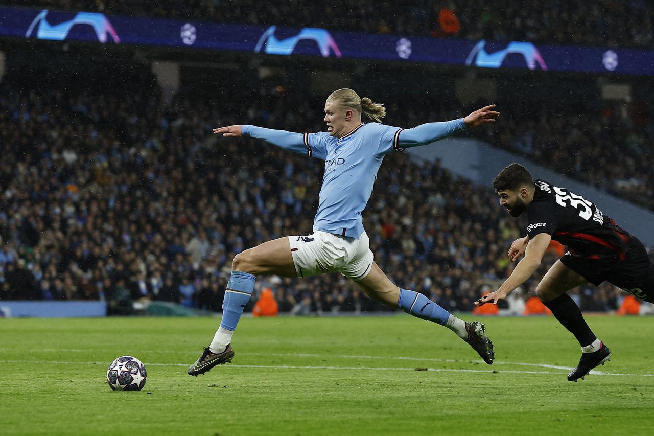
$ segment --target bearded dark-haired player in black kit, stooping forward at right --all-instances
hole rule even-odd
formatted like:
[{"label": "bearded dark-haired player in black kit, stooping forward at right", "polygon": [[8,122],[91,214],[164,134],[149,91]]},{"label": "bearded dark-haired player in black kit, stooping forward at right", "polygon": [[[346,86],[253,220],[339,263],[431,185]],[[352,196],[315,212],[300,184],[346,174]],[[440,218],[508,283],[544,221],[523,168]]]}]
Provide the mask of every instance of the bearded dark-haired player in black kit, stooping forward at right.
[{"label": "bearded dark-haired player in black kit, stooping forward at right", "polygon": [[642,242],[620,228],[585,198],[542,180],[532,180],[524,166],[511,164],[493,181],[500,206],[512,217],[527,213],[527,236],[511,244],[509,258],[525,255],[497,291],[475,301],[479,306],[496,304],[525,282],[540,265],[551,240],[568,252],[538,283],[536,293],[543,304],[581,345],[581,359],[568,374],[576,382],[611,356],[609,348],[593,334],[581,310],[567,291],[591,282],[607,282],[647,302],[654,302],[654,264]]}]

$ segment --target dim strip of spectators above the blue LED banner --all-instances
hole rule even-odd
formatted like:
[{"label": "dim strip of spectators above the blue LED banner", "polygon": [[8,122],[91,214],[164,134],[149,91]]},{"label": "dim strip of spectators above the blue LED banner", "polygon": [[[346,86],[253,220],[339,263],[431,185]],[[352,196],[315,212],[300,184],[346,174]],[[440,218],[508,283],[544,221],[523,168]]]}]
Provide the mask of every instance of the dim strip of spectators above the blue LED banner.
[{"label": "dim strip of spectators above the blue LED banner", "polygon": [[[2,3],[23,5],[11,0]],[[274,7],[254,0],[36,0],[31,5],[131,16],[324,27],[397,35],[564,45],[654,46],[654,8],[645,0],[589,3],[498,0],[483,4],[473,0],[408,0],[402,5],[390,0],[349,0],[337,6],[294,0]]]}]

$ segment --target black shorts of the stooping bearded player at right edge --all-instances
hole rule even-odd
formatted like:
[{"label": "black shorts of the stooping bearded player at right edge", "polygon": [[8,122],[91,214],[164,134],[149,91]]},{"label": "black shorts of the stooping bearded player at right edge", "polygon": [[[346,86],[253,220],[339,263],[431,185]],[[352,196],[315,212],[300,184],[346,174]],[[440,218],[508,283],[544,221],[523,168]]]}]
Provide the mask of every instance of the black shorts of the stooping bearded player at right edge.
[{"label": "black shorts of the stooping bearded player at right edge", "polygon": [[598,286],[606,282],[627,291],[634,297],[654,302],[654,263],[638,238],[631,236],[626,259],[589,259],[566,253],[562,264]]}]

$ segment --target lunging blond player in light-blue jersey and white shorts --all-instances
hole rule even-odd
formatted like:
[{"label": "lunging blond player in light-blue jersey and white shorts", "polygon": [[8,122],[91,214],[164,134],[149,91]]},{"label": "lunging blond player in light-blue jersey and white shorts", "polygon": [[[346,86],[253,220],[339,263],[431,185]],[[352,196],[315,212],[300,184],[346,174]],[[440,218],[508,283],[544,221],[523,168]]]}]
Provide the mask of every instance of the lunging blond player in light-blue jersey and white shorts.
[{"label": "lunging blond player in light-blue jersey and white shorts", "polygon": [[[385,107],[344,88],[332,92],[325,103],[327,132],[299,134],[256,126],[214,129],[214,134],[264,139],[283,149],[324,160],[325,172],[312,234],[264,242],[234,257],[220,328],[188,374],[197,376],[232,361],[232,334],[250,300],[256,276],[309,277],[328,272],[341,272],[369,297],[387,306],[448,327],[490,365],[494,351],[483,324],[456,318],[421,293],[402,289],[388,280],[373,261],[362,212],[386,154],[494,122],[500,114],[492,109],[494,105],[458,120],[430,122],[405,130],[380,124],[386,115]],[[363,123],[362,115],[374,122]]]}]

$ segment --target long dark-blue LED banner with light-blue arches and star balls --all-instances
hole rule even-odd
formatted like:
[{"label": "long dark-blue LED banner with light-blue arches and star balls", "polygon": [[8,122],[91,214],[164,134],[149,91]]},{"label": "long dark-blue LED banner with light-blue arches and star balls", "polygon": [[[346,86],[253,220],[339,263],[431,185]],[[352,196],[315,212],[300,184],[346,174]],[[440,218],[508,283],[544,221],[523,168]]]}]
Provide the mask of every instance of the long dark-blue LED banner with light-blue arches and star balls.
[{"label": "long dark-blue LED banner with light-blue arches and star balls", "polygon": [[283,56],[302,54],[485,68],[654,75],[654,50],[398,37],[313,27],[288,29],[129,18],[97,12],[0,8],[0,36],[236,50]]}]

